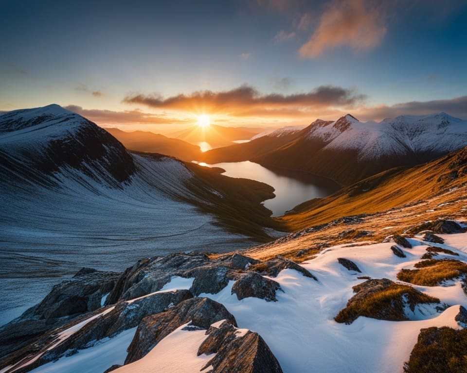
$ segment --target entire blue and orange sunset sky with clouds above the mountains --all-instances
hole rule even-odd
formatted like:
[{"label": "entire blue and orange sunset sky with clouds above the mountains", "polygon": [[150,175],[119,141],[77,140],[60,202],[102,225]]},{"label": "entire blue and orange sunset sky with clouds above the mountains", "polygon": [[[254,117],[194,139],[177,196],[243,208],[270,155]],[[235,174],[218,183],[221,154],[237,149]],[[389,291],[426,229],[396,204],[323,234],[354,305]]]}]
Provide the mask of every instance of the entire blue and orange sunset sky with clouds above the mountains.
[{"label": "entire blue and orange sunset sky with clouds above the mountains", "polygon": [[0,0],[0,111],[167,132],[467,119],[464,0]]}]

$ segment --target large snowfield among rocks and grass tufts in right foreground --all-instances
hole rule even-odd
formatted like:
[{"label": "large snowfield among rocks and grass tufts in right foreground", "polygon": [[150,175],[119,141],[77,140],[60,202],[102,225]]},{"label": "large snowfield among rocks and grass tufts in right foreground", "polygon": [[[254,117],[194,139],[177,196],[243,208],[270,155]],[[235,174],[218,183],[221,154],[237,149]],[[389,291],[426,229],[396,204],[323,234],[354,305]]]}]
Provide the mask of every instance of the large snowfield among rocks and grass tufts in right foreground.
[{"label": "large snowfield among rocks and grass tufts in right foreground", "polygon": [[[462,260],[467,260],[467,254],[455,248],[461,244],[459,248],[467,253],[467,234],[440,236],[447,240],[440,246],[458,252]],[[454,281],[449,287],[414,286],[451,305],[441,314],[436,313],[434,305],[421,305],[415,312],[407,311],[411,321],[390,322],[359,317],[351,325],[345,325],[333,318],[353,296],[352,286],[365,280],[358,280],[354,272],[338,263],[337,258],[354,261],[361,269],[361,275],[397,281],[396,273],[402,268],[413,268],[428,247],[421,238],[411,239],[411,243],[416,245],[413,249],[404,250],[407,258],[398,258],[392,253],[392,242],[332,247],[315,259],[302,263],[317,276],[318,282],[294,270],[281,271],[273,278],[284,290],[284,293],[277,292],[277,302],[257,298],[238,301],[231,294],[234,281],[218,294],[200,296],[209,296],[222,303],[235,316],[240,327],[258,332],[285,373],[310,369],[316,372],[401,372],[421,328],[458,327],[454,317],[459,305],[467,306],[460,281]]]}]

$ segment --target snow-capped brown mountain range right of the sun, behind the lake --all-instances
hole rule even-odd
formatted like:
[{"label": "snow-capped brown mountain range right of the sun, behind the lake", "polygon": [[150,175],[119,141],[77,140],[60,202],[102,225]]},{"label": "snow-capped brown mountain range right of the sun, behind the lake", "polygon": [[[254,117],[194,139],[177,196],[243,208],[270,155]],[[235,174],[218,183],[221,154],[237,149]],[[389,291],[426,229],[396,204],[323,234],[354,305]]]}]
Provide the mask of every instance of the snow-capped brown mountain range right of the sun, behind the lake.
[{"label": "snow-capped brown mountain range right of the sun, behind the lake", "polygon": [[251,160],[263,166],[303,170],[343,186],[383,170],[413,166],[467,144],[467,122],[445,113],[401,116],[380,123],[351,115],[318,119],[300,132],[270,134],[203,154],[207,163]]}]

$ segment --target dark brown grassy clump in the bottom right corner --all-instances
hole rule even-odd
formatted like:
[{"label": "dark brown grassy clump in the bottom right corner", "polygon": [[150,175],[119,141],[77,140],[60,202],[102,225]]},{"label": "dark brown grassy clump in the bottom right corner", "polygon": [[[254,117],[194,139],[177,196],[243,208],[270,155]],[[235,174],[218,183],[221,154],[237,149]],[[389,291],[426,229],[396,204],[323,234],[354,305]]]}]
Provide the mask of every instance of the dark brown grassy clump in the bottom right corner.
[{"label": "dark brown grassy clump in the bottom right corner", "polygon": [[467,329],[449,327],[422,329],[413,347],[405,373],[467,372]]}]

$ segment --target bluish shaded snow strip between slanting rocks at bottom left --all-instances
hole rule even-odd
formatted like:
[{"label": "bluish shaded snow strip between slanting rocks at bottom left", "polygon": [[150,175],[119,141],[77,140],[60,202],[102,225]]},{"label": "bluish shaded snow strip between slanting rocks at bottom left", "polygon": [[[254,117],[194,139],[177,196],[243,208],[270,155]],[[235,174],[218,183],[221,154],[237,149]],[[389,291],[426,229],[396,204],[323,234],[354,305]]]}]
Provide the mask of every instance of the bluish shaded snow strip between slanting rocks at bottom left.
[{"label": "bluish shaded snow strip between slanting rocks at bottom left", "polygon": [[94,346],[78,350],[77,354],[64,356],[32,370],[32,373],[95,373],[104,372],[112,365],[123,365],[126,348],[134,337],[136,327],[125,330],[113,338],[101,339]]}]

